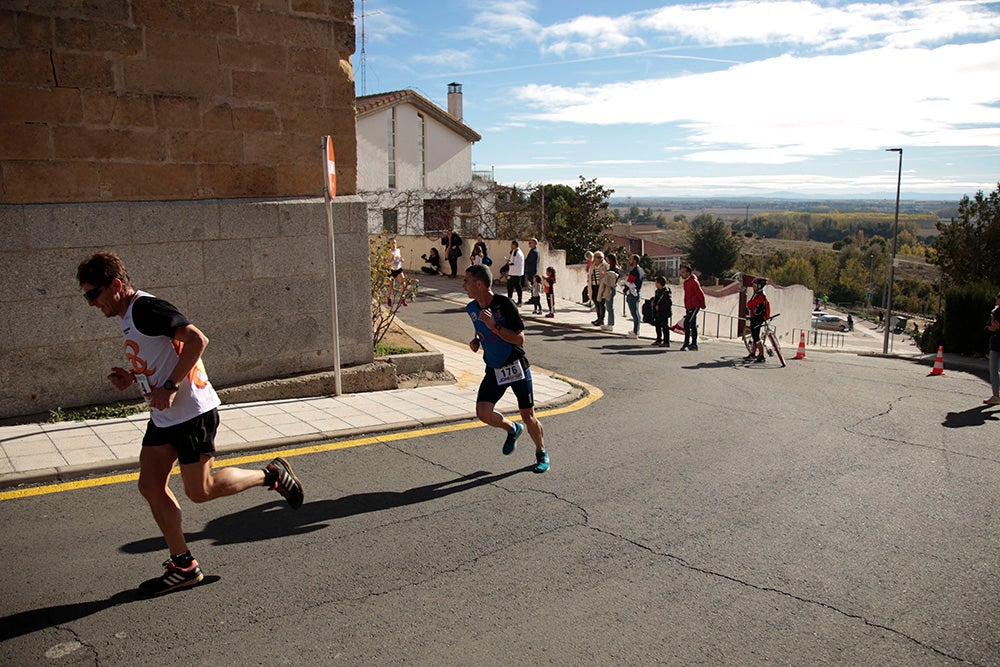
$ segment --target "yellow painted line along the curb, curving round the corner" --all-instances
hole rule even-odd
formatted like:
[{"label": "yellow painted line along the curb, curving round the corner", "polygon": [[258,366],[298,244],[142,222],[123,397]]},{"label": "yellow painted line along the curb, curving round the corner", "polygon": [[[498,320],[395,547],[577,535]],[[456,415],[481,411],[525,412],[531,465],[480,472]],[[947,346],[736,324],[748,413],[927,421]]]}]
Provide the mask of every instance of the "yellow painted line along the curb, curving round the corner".
[{"label": "yellow painted line along the curb, curving round the corner", "polygon": [[[539,368],[539,370],[542,370]],[[547,372],[547,371],[545,371]],[[566,378],[561,378],[556,375],[552,377],[557,377],[564,382],[570,384],[576,384],[587,390],[588,394],[576,401],[573,401],[569,405],[565,405],[560,408],[553,408],[551,410],[540,410],[538,412],[539,417],[561,415],[568,412],[575,412],[577,410],[582,410],[591,403],[599,400],[604,396],[602,392],[597,387],[589,385],[585,382],[579,380],[569,380]],[[510,419],[520,419],[520,416],[510,417]],[[380,442],[395,442],[398,440],[407,440],[409,438],[422,438],[429,435],[438,435],[441,433],[454,433],[456,431],[466,431],[473,428],[482,428],[486,424],[474,420],[466,421],[458,424],[445,424],[442,426],[430,426],[427,428],[419,428],[415,430],[406,431],[395,431],[393,433],[383,433],[380,435],[373,435],[364,438],[352,438],[350,440],[343,440],[339,442],[326,442],[317,445],[308,445],[305,447],[296,447],[293,449],[286,449],[281,451],[269,451],[261,454],[248,454],[246,456],[236,456],[233,458],[227,458],[223,461],[216,461],[216,467],[224,468],[226,466],[239,466],[248,465],[251,463],[260,463],[262,461],[270,461],[275,456],[283,456],[285,458],[292,458],[294,456],[305,456],[307,454],[321,454],[323,452],[332,452],[338,449],[349,449],[351,447],[361,447],[363,445],[374,445]],[[177,474],[180,472],[179,468],[174,468],[172,473]],[[32,496],[42,496],[50,493],[62,493],[64,491],[76,491],[78,489],[88,489],[95,486],[108,486],[110,484],[122,484],[124,482],[135,482],[139,479],[138,472],[123,473],[120,475],[107,475],[104,477],[93,477],[90,479],[81,479],[72,482],[59,482],[56,484],[45,484],[42,486],[33,486],[24,489],[13,489],[9,491],[0,491],[0,501],[4,500],[15,500],[18,498],[29,498]]]}]

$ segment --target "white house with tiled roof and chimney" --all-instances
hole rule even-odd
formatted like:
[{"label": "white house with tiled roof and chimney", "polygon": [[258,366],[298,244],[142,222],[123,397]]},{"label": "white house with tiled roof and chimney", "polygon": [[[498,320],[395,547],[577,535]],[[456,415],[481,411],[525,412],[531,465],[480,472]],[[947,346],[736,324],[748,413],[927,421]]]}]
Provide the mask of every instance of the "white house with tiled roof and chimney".
[{"label": "white house with tiled roof and chimney", "polygon": [[486,233],[493,188],[472,172],[482,137],[462,122],[462,86],[448,84],[448,110],[412,90],[357,101],[358,193],[371,233]]}]

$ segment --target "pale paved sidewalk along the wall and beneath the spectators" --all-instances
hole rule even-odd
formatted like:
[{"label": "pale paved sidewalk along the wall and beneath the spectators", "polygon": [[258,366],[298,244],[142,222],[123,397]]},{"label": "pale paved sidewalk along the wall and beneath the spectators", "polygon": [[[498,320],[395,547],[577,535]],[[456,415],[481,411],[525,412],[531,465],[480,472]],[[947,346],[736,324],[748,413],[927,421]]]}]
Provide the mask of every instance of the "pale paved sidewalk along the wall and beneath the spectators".
[{"label": "pale paved sidewalk along the wall and beneath the spectators", "polygon": [[[468,298],[461,280],[438,276],[420,276],[420,297],[446,299],[463,305]],[[527,297],[525,297],[527,299]],[[632,322],[621,313],[621,297],[616,299],[616,325],[613,334],[624,338]],[[556,316],[531,315],[522,308],[527,322],[567,326],[598,332],[591,324],[595,315],[586,306],[559,300]],[[401,319],[405,322],[405,312]],[[345,396],[286,399],[257,403],[223,405],[219,408],[222,423],[216,438],[220,455],[277,449],[344,439],[388,431],[426,427],[475,418],[476,390],[483,374],[480,354],[467,345],[420,332],[445,357],[445,368],[455,376],[453,385],[396,389]],[[471,338],[471,327],[469,329]],[[701,337],[706,343],[711,339]],[[642,325],[637,344],[648,345],[652,327]],[[683,337],[672,335],[679,350]],[[731,346],[734,341],[718,342]],[[714,346],[691,354],[718,354]],[[787,346],[788,356],[794,348]],[[810,350],[810,354],[813,350]],[[685,353],[686,354],[686,353]],[[531,350],[528,350],[529,359]],[[895,355],[924,361],[928,355]],[[933,363],[934,355],[925,363]],[[986,362],[973,369],[985,370]],[[962,367],[959,358],[945,355],[945,367]],[[539,409],[569,403],[582,395],[580,389],[553,377],[544,367],[532,363],[535,401]],[[507,413],[516,412],[516,401],[508,393],[498,406]],[[127,419],[25,424],[0,427],[0,489],[21,484],[64,481],[110,471],[138,469],[139,449],[149,413]]]}]

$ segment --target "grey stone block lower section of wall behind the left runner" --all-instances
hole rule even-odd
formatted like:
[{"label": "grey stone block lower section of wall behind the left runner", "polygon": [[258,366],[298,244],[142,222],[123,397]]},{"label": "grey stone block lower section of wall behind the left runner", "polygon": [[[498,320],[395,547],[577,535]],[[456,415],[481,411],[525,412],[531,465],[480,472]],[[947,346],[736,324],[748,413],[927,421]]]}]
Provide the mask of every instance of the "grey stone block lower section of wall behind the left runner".
[{"label": "grey stone block lower section of wall behind the left runner", "polygon": [[[360,197],[334,202],[348,366],[373,357],[368,227]],[[0,292],[0,418],[137,398],[105,379],[125,361],[118,320],[76,283],[76,267],[99,250],[117,252],[136,288],[205,332],[216,386],[333,366],[322,199],[0,206],[0,222],[0,263],[18,285]]]}]

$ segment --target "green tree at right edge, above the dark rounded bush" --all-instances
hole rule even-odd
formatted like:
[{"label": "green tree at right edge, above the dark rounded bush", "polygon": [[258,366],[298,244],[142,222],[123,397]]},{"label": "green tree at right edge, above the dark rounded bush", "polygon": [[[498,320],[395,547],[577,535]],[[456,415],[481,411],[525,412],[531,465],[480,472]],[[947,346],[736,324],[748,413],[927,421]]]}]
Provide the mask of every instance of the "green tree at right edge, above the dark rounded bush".
[{"label": "green tree at right edge, above the dark rounded bush", "polygon": [[980,190],[958,205],[958,219],[937,223],[933,261],[950,284],[986,280],[1000,283],[1000,183],[989,195]]}]

